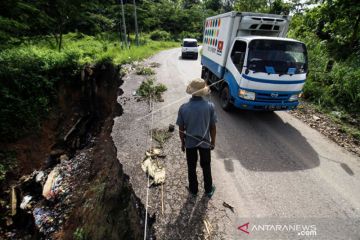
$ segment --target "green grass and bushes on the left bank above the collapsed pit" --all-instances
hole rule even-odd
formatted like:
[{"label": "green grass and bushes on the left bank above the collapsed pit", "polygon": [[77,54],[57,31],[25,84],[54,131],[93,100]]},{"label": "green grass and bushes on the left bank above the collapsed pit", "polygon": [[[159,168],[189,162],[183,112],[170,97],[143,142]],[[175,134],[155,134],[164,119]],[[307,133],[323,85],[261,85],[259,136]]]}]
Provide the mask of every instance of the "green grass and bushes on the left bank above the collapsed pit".
[{"label": "green grass and bushes on the left bank above the collapsed pit", "polygon": [[60,80],[80,80],[85,63],[112,61],[115,64],[141,60],[162,49],[177,45],[154,42],[121,49],[117,41],[84,34],[64,36],[59,52],[47,41],[28,43],[0,52],[0,139],[13,141],[40,127],[57,99]]}]

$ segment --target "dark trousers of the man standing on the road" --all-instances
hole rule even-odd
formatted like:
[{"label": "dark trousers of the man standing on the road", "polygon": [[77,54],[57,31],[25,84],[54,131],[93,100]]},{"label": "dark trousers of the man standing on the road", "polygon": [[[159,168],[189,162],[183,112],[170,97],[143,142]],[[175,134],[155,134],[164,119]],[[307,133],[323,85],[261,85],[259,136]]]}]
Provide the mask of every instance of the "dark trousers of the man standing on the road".
[{"label": "dark trousers of the man standing on the road", "polygon": [[203,170],[204,189],[206,193],[211,192],[212,178],[211,178],[211,154],[208,148],[187,148],[186,160],[188,164],[188,178],[189,190],[196,194],[198,192],[198,181],[196,176],[196,165],[198,159],[198,151],[200,154],[200,166]]}]

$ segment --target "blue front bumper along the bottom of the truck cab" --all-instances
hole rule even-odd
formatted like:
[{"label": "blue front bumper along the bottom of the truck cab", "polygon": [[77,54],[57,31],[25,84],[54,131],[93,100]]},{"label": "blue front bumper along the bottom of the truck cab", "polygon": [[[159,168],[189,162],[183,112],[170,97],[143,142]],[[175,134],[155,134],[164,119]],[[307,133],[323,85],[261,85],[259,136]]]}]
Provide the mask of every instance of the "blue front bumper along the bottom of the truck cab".
[{"label": "blue front bumper along the bottom of the truck cab", "polygon": [[298,105],[298,101],[284,102],[284,103],[269,103],[269,102],[258,102],[249,101],[240,97],[233,98],[232,103],[235,107],[240,109],[248,109],[254,111],[285,111],[295,109]]}]

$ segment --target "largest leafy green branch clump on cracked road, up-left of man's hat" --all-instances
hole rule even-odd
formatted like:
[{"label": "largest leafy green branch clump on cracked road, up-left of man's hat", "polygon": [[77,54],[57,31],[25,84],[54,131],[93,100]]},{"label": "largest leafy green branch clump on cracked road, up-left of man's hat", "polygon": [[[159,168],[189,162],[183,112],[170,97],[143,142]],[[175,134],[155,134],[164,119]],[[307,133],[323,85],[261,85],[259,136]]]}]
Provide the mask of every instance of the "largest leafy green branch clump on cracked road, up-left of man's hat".
[{"label": "largest leafy green branch clump on cracked road, up-left of man's hat", "polygon": [[161,99],[161,94],[167,90],[166,86],[162,83],[155,83],[154,78],[149,78],[143,81],[137,90],[137,94],[146,99],[154,99],[159,101]]}]

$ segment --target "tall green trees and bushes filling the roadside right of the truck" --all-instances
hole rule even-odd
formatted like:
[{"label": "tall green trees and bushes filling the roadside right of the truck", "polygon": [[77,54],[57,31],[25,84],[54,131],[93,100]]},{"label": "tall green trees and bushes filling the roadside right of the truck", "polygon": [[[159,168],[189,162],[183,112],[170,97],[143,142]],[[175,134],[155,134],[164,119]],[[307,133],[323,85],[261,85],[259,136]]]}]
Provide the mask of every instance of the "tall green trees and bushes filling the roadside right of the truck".
[{"label": "tall green trees and bushes filling the roadside right of the truck", "polygon": [[[360,7],[357,4],[358,9],[351,13],[344,9],[351,8],[351,5],[345,6],[345,2],[326,2],[308,10],[305,16],[294,16],[290,36],[305,42],[308,47],[310,73],[304,97],[323,111],[344,111],[359,117],[360,34],[354,30],[359,28],[356,11],[359,12]],[[344,12],[338,12],[340,15],[330,21],[328,15],[334,14],[336,5],[337,11],[342,9]],[[342,20],[339,22],[339,19]]]}]

